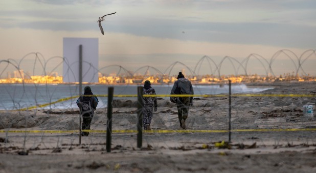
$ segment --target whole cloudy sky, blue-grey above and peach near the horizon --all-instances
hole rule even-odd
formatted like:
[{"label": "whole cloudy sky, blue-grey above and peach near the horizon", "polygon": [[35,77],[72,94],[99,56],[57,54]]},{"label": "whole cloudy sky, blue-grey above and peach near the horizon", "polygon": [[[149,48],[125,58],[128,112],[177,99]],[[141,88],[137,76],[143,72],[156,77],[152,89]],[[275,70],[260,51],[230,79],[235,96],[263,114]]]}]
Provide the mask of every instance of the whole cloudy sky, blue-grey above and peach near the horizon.
[{"label": "whole cloudy sky, blue-grey above and peach near the horizon", "polygon": [[[98,18],[113,12],[102,21],[102,35]],[[316,75],[314,16],[314,0],[0,1],[0,60],[18,62],[31,52],[46,60],[62,57],[63,38],[79,37],[98,38],[99,69],[120,65],[140,72],[150,66],[166,73],[180,62],[171,73],[189,73],[188,68],[214,73],[210,61],[200,61],[206,55],[217,66],[225,60],[220,73],[232,74],[239,73],[238,63],[232,62],[245,63],[246,57],[258,55],[273,60],[278,75],[296,71],[302,56],[306,60],[299,74]],[[30,56],[21,65],[26,71],[35,70]],[[266,74],[268,65],[261,64],[252,56],[246,72]],[[47,68],[62,74],[57,65],[51,61]]]}]

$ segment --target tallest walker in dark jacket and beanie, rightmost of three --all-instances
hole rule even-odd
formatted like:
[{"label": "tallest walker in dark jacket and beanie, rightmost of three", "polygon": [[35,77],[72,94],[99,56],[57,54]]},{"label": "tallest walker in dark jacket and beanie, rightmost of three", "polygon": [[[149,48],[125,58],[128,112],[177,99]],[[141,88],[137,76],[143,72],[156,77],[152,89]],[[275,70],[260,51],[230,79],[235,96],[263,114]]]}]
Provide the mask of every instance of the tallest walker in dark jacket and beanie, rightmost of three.
[{"label": "tallest walker in dark jacket and beanie, rightmost of three", "polygon": [[[182,72],[179,72],[177,79],[173,84],[170,94],[194,94],[191,81],[185,78]],[[186,129],[186,120],[188,118],[189,107],[190,105],[193,106],[193,97],[170,97],[170,101],[176,103],[180,127]]]}]

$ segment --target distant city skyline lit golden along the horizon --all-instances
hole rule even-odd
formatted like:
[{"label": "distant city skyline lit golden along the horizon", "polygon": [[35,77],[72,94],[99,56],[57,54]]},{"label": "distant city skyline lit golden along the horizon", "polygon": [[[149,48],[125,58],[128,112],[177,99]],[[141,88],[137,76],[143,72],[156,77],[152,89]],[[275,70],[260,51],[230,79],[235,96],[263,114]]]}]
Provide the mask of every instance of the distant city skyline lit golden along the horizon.
[{"label": "distant city skyline lit golden along the horizon", "polygon": [[[147,71],[148,72],[148,71]],[[77,81],[65,81],[62,76],[54,75],[40,75],[40,76],[29,76],[25,75],[23,70],[14,71],[14,77],[0,78],[0,84],[74,84],[79,83]],[[92,83],[92,84],[143,84],[146,80],[149,80],[152,84],[170,84],[174,83],[176,79],[175,75],[150,75],[146,73],[145,75],[141,74],[97,74],[97,81],[89,81],[83,83]],[[213,75],[197,75],[190,76],[187,78],[192,82],[192,84],[218,84],[218,83],[227,83],[231,81],[232,83],[271,83],[271,82],[311,82],[316,81],[316,76],[298,76],[294,74],[284,74],[280,76],[259,76],[259,75],[222,75],[222,76],[213,76]]]}]

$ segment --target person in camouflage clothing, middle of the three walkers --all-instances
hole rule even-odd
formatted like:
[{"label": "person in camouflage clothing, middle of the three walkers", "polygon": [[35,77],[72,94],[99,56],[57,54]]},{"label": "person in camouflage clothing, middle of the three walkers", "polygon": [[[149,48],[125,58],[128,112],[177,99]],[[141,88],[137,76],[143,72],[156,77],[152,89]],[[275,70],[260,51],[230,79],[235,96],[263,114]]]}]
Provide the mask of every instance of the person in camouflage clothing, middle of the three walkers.
[{"label": "person in camouflage clothing, middle of the three walkers", "polygon": [[[143,95],[156,95],[156,92],[150,86],[150,81],[146,80],[143,87]],[[152,119],[153,111],[157,111],[157,98],[154,97],[143,97],[143,127],[144,130],[151,130],[150,123]]]}]

